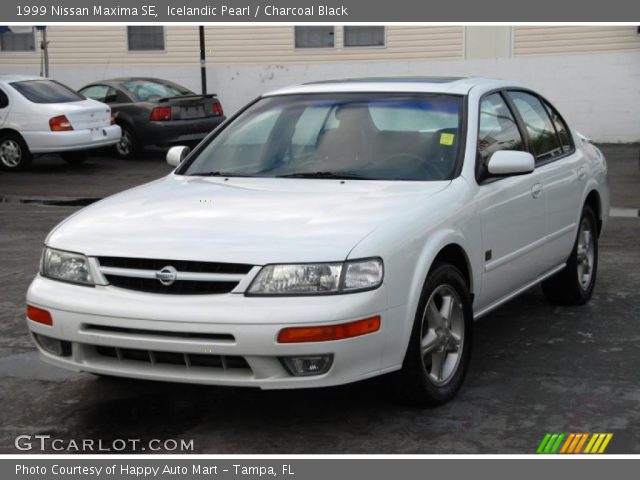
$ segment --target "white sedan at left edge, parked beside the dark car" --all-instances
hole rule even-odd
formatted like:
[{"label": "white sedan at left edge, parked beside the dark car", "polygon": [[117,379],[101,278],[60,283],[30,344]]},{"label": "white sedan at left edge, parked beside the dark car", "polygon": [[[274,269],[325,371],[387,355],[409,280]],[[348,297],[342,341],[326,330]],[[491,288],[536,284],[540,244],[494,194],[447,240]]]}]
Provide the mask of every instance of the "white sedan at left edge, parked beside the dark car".
[{"label": "white sedan at left edge, parked beside the dark car", "polygon": [[70,163],[87,150],[114,145],[120,127],[111,109],[48,78],[0,75],[0,166],[23,170],[35,154],[60,153]]}]

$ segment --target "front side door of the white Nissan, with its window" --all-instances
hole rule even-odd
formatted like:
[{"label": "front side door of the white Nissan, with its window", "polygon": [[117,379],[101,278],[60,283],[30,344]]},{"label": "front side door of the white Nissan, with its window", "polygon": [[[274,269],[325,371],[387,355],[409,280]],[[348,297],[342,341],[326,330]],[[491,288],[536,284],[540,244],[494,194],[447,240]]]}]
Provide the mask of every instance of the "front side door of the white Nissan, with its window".
[{"label": "front side door of the white Nissan, with its window", "polygon": [[484,271],[481,310],[532,282],[544,271],[545,190],[537,169],[525,175],[490,177],[486,164],[498,150],[527,150],[511,106],[500,92],[480,104],[477,180]]}]

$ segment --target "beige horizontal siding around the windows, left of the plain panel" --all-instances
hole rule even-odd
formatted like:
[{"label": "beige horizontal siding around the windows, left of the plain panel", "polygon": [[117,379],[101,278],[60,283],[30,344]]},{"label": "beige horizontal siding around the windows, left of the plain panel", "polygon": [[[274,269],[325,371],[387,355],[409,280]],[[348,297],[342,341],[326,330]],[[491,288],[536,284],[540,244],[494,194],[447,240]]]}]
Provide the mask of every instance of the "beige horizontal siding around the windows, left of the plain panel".
[{"label": "beige horizontal siding around the windows, left of the plain panel", "polygon": [[[464,27],[388,26],[383,47],[344,47],[342,27],[335,27],[335,47],[295,48],[294,27],[209,26],[207,63],[295,64],[458,59],[464,56]],[[40,33],[37,42],[40,40]],[[198,62],[197,26],[165,27],[163,51],[128,51],[125,26],[51,26],[51,65],[193,65]],[[38,65],[40,52],[0,52],[0,67]]]}]

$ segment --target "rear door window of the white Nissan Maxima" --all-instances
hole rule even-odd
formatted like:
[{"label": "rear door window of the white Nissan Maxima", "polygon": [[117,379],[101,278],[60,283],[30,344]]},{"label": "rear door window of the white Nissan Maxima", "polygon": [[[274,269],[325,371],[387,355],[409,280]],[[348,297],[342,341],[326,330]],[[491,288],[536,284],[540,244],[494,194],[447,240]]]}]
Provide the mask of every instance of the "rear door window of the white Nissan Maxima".
[{"label": "rear door window of the white Nissan Maxima", "polygon": [[524,121],[536,160],[561,155],[562,146],[540,99],[524,92],[509,92],[509,95]]}]

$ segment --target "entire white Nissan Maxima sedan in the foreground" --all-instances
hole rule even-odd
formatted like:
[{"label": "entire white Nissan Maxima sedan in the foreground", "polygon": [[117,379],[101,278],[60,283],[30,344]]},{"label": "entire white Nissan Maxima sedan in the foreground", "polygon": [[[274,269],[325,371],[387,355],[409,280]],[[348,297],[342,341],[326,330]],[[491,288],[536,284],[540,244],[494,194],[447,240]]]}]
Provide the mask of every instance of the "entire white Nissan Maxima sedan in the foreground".
[{"label": "entire white Nissan Maxima sedan in the foreground", "polygon": [[537,283],[561,304],[594,288],[605,159],[523,85],[294,86],[167,160],[47,237],[27,294],[43,360],[264,389],[395,372],[434,405],[475,318]]}]

